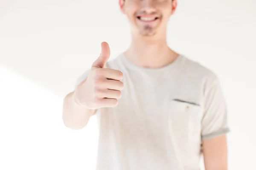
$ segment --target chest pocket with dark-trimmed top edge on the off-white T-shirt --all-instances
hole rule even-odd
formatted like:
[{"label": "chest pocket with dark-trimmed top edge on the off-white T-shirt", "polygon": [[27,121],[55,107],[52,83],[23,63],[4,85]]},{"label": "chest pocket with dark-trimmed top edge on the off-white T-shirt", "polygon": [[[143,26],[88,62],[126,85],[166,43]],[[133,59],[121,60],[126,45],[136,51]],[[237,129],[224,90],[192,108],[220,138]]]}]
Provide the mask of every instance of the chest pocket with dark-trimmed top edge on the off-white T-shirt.
[{"label": "chest pocket with dark-trimmed top edge on the off-white T-shirt", "polygon": [[[177,142],[200,141],[202,108],[199,105],[170,100],[168,105],[169,128]],[[199,141],[198,141],[199,140]]]}]

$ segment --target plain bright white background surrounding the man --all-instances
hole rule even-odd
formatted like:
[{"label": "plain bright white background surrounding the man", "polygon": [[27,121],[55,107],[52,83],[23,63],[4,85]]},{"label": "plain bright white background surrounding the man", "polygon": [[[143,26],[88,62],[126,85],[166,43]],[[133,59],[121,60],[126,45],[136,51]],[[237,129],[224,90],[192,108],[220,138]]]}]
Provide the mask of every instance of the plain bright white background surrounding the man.
[{"label": "plain bright white background surrounding the man", "polygon": [[[178,0],[168,43],[212,69],[229,108],[229,169],[256,169],[256,1]],[[97,129],[62,122],[64,96],[130,43],[118,0],[0,0],[0,170],[93,170]]]}]

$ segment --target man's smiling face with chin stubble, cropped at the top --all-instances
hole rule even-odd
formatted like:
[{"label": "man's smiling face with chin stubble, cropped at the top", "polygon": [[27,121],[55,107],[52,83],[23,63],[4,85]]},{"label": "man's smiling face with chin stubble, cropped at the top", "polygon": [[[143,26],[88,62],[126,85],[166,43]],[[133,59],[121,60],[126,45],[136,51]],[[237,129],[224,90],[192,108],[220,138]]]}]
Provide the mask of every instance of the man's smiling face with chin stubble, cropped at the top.
[{"label": "man's smiling face with chin stubble, cropped at the top", "polygon": [[131,23],[132,31],[143,36],[154,36],[165,31],[177,0],[119,0],[119,5]]}]

